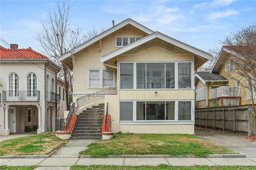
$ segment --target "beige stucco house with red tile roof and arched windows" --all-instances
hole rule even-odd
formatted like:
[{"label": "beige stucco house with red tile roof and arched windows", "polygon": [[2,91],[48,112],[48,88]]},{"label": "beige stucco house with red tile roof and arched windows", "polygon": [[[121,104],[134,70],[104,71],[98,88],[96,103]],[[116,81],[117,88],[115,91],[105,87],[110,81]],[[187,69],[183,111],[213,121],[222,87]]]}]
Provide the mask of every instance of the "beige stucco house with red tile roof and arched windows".
[{"label": "beige stucco house with red tile roof and arched windows", "polygon": [[30,47],[0,46],[0,135],[55,130],[55,117],[64,106],[60,101],[63,82],[56,78],[58,71],[56,64]]}]

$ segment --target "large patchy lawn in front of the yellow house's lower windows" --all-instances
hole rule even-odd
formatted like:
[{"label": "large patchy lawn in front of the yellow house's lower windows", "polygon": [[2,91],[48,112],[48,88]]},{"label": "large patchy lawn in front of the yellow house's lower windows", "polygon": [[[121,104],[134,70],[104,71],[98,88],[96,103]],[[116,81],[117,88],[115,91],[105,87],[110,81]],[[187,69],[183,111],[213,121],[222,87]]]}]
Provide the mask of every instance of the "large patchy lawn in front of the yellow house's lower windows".
[{"label": "large patchy lawn in front of the yellow house's lower windows", "polygon": [[92,142],[80,154],[102,158],[107,155],[123,154],[169,154],[202,157],[208,154],[238,154],[238,152],[190,134],[116,133],[110,140]]}]

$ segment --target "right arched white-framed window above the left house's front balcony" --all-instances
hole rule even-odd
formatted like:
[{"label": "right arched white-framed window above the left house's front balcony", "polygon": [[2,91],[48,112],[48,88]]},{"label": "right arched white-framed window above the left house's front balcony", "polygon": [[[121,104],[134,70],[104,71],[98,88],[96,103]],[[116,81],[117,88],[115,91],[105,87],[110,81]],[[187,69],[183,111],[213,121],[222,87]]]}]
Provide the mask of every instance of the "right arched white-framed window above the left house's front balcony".
[{"label": "right arched white-framed window above the left house's front balcony", "polygon": [[37,77],[34,73],[27,76],[27,97],[37,97]]}]

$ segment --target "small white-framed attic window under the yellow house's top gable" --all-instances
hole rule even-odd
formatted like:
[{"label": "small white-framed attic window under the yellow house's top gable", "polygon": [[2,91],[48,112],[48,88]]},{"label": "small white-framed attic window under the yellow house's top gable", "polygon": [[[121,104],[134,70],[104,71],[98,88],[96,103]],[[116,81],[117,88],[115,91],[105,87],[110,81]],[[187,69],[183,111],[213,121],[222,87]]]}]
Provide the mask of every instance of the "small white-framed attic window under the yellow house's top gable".
[{"label": "small white-framed attic window under the yellow house's top gable", "polygon": [[140,40],[143,36],[115,36],[115,47],[123,47],[129,43]]}]

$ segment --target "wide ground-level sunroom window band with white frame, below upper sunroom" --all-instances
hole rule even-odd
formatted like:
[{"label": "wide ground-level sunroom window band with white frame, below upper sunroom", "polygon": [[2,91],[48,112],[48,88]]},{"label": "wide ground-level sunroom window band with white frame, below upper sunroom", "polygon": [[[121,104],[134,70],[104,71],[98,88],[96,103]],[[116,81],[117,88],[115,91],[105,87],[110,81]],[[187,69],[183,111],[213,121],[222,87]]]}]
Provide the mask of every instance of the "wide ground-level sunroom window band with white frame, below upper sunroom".
[{"label": "wide ground-level sunroom window band with white frame, below upper sunroom", "polygon": [[192,101],[121,101],[120,121],[192,121]]}]

